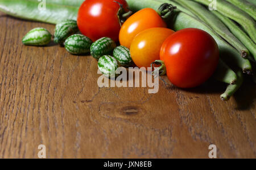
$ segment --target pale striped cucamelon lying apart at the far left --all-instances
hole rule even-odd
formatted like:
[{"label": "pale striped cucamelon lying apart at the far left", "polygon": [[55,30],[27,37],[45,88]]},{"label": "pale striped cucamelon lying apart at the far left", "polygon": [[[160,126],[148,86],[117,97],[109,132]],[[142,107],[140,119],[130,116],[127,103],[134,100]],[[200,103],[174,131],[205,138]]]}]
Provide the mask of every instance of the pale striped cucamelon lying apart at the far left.
[{"label": "pale striped cucamelon lying apart at the far left", "polygon": [[22,39],[24,45],[42,46],[51,42],[52,35],[46,28],[34,28]]}]

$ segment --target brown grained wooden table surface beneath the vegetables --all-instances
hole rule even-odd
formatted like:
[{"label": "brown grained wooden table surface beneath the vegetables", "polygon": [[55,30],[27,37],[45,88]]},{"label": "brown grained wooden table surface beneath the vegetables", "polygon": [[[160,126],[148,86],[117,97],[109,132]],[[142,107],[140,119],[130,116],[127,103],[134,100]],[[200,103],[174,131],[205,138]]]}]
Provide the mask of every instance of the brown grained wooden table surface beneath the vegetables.
[{"label": "brown grained wooden table surface beneath the vegetables", "polygon": [[181,90],[166,77],[148,88],[99,88],[97,62],[63,47],[22,45],[35,27],[0,13],[0,158],[256,157],[256,88],[222,102],[225,85]]}]

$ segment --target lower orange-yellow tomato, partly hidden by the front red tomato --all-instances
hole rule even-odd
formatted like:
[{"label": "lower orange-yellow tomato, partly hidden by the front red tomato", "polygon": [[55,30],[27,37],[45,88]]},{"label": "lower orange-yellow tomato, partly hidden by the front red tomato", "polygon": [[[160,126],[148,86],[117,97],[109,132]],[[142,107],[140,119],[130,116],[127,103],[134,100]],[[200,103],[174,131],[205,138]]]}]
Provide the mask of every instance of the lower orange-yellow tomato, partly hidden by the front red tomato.
[{"label": "lower orange-yellow tomato, partly hidden by the front red tomato", "polygon": [[150,67],[155,60],[160,60],[160,48],[168,38],[174,34],[168,28],[150,28],[135,36],[131,43],[131,59],[139,67]]}]

